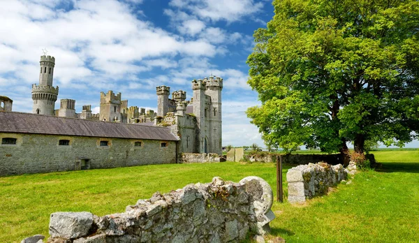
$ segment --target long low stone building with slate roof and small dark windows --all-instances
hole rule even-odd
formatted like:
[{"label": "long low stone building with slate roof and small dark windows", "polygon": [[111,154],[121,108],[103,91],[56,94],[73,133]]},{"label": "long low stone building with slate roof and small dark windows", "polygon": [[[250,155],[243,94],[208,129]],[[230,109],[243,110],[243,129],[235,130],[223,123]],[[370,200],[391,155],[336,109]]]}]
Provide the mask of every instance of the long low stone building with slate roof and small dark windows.
[{"label": "long low stone building with slate roof and small dark windows", "polygon": [[0,112],[0,176],[176,163],[169,128]]}]

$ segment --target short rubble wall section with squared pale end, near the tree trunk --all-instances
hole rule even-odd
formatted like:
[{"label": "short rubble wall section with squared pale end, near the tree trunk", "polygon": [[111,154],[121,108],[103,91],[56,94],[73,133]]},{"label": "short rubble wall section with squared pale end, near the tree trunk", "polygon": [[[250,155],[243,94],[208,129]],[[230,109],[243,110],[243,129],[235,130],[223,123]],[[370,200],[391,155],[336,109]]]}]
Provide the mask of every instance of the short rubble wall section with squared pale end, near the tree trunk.
[{"label": "short rubble wall section with squared pale end, near the tree trunk", "polygon": [[286,173],[288,202],[305,202],[307,198],[324,194],[335,186],[347,173],[341,164],[309,163],[291,168]]}]

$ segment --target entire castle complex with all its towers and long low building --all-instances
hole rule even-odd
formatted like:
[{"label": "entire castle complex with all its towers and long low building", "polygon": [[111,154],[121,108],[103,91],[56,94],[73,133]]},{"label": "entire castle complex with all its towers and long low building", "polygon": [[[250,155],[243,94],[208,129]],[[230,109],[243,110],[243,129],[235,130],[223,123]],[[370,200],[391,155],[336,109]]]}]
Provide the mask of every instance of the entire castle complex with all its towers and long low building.
[{"label": "entire castle complex with all its towers and long low building", "polygon": [[223,80],[193,80],[186,91],[156,87],[157,112],[128,107],[122,94],[100,94],[100,112],[91,105],[75,112],[75,100],[55,102],[55,59],[43,55],[39,84],[32,84],[32,113],[12,112],[13,101],[0,96],[0,175],[83,168],[176,163],[182,153],[221,154]]}]

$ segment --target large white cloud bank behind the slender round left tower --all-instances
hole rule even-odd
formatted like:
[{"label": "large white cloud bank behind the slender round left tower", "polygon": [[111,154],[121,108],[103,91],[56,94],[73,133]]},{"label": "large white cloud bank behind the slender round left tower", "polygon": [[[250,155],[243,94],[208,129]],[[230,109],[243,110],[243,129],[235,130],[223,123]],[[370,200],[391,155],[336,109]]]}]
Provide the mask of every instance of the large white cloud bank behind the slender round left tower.
[{"label": "large white cloud bank behind the slender round left tower", "polygon": [[[123,2],[81,0],[71,10],[54,10],[59,3],[0,2],[0,16],[5,20],[0,24],[0,76],[8,72],[25,83],[36,82],[34,73],[44,47],[57,57],[54,78],[64,85],[93,77],[112,82],[116,75],[174,68],[167,55],[213,57],[220,52],[207,41],[185,41],[138,20]],[[200,31],[201,27],[190,22],[188,28]],[[142,63],[145,59],[154,61]]]}]

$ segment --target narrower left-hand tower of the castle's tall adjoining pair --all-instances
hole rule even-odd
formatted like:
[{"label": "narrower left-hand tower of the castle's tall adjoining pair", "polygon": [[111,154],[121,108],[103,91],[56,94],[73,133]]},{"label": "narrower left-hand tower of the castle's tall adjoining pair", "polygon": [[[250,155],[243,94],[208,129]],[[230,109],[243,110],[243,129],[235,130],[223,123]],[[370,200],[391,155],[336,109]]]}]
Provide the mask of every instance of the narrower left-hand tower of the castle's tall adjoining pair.
[{"label": "narrower left-hand tower of the castle's tall adjoining pair", "polygon": [[193,80],[193,114],[196,117],[196,150],[198,153],[208,152],[207,140],[205,140],[205,83],[203,80]]}]

